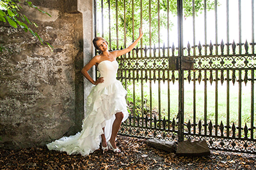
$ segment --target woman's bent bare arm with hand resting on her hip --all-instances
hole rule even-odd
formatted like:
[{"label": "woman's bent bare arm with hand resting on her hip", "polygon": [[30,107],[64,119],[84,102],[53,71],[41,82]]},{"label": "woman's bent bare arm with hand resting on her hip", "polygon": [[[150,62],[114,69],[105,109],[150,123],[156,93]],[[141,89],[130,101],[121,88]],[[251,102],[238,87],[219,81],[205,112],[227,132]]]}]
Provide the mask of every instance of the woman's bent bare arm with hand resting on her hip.
[{"label": "woman's bent bare arm with hand resting on her hip", "polygon": [[97,64],[98,61],[98,57],[95,56],[93,57],[92,60],[90,60],[90,62],[88,62],[88,64],[86,64],[83,69],[81,70],[81,73],[83,73],[83,75],[85,76],[85,78],[87,80],[89,80],[91,83],[93,83],[93,85],[97,85],[99,83],[102,83],[104,80],[102,77],[98,78],[96,81],[94,81],[92,79],[92,77],[88,74],[88,70],[92,68],[92,66],[94,66],[95,64]]}]

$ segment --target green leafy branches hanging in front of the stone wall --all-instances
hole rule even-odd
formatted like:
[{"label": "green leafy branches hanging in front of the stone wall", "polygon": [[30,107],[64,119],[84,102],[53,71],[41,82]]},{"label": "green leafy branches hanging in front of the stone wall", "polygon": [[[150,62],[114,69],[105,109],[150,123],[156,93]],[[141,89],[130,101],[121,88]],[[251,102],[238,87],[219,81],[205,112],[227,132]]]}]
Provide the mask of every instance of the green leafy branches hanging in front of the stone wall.
[{"label": "green leafy branches hanging in front of the stone wall", "polygon": [[[25,32],[30,32],[35,38],[38,38],[42,45],[46,43],[50,48],[53,48],[48,42],[44,41],[37,32],[33,31],[29,25],[35,25],[38,27],[35,22],[31,22],[28,17],[20,12],[22,7],[18,4],[20,0],[1,0],[0,1],[0,22],[8,22],[14,28],[22,28]],[[51,15],[45,11],[40,10],[37,6],[33,5],[31,1],[26,1],[29,7],[35,8],[36,10],[45,13],[51,17]],[[0,45],[0,52],[3,52],[4,48]]]}]

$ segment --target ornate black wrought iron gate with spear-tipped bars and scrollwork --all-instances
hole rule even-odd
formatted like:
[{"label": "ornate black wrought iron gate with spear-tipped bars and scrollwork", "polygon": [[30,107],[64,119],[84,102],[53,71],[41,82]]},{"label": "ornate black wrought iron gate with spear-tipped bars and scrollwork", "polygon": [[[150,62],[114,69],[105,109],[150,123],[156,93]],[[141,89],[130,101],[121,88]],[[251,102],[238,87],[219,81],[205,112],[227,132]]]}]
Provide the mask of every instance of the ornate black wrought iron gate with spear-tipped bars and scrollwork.
[{"label": "ornate black wrought iron gate with spear-tipped bars and scrollwork", "polygon": [[[112,42],[111,48],[115,50],[125,48],[127,41],[122,46],[118,43],[120,37],[126,39],[127,32],[118,32],[118,5],[121,1],[115,1],[115,18],[111,14],[111,1],[99,3],[100,13],[104,20],[104,10],[108,11],[109,32],[106,39]],[[132,10],[132,39],[134,39],[134,10],[135,4],[140,4],[143,8],[142,0],[122,1],[124,18],[128,4]],[[150,8],[152,3],[157,4],[157,29],[160,37],[160,1],[147,1],[147,10],[149,20]],[[184,3],[191,3],[193,24],[193,45],[183,43],[183,20]],[[207,21],[207,1],[202,1],[204,11],[204,23]],[[117,78],[122,81],[125,89],[128,90],[127,103],[129,104],[130,116],[122,124],[120,134],[127,136],[136,136],[139,138],[157,138],[170,141],[183,141],[185,139],[201,140],[205,139],[210,148],[214,150],[227,150],[233,152],[256,153],[255,143],[255,73],[256,56],[254,43],[254,1],[252,4],[252,41],[248,43],[245,40],[242,43],[241,26],[241,1],[237,1],[239,10],[238,34],[239,38],[229,42],[230,28],[229,6],[227,0],[225,3],[227,13],[227,38],[218,39],[218,1],[212,1],[212,8],[215,13],[215,42],[207,39],[207,25],[204,24],[204,44],[200,41],[195,43],[195,18],[196,3],[192,1],[177,1],[177,31],[178,45],[170,45],[170,32],[167,31],[167,43],[160,45],[158,39],[157,45],[152,45],[152,34],[150,21],[148,43],[143,45],[141,41],[137,48],[132,52],[119,57],[119,69]],[[113,2],[112,2],[113,3]],[[166,3],[166,23],[167,30],[170,29],[170,4],[173,1],[163,1]],[[107,5],[108,4],[108,5]],[[106,8],[104,7],[106,5]],[[129,7],[129,8],[130,8]],[[197,6],[198,7],[198,6]],[[152,8],[153,10],[155,8]],[[208,9],[209,10],[209,9]],[[129,11],[129,10],[128,10]],[[140,20],[142,21],[143,12],[140,10]],[[122,18],[122,17],[121,17]],[[115,23],[111,24],[111,20]],[[152,23],[151,23],[152,24]],[[103,26],[102,24],[102,30]],[[116,36],[113,36],[115,25]],[[142,24],[141,24],[142,25]],[[140,25],[140,26],[141,26]],[[124,22],[124,28],[127,22]],[[145,27],[145,25],[144,25]],[[101,36],[105,33],[102,31]],[[100,36],[98,34],[98,36]],[[147,35],[147,34],[146,34]],[[119,38],[118,38],[119,36]],[[115,38],[113,38],[115,37]],[[112,40],[111,40],[112,39]],[[115,41],[113,41],[115,39]],[[114,45],[114,43],[116,45]],[[208,42],[208,43],[207,43]],[[165,45],[167,44],[167,45]],[[161,46],[161,47],[160,47]],[[99,76],[99,73],[97,73]],[[246,94],[246,95],[244,95]]]}]

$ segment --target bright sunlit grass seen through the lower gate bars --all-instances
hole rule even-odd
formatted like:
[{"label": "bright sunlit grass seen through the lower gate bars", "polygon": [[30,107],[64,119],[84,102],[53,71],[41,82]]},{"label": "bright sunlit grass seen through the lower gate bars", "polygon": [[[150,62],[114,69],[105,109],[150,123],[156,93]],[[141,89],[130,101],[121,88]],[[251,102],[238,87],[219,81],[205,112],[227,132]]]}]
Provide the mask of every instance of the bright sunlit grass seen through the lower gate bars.
[{"label": "bright sunlit grass seen through the lower gate bars", "polygon": [[[196,82],[196,95],[195,95],[195,107],[196,107],[196,123],[199,120],[204,121],[204,114],[207,115],[207,122],[209,123],[210,120],[212,124],[215,124],[215,117],[216,111],[218,113],[218,124],[222,121],[224,125],[227,124],[227,84],[224,82],[223,85],[221,83],[218,84],[218,109],[216,110],[216,87],[215,83],[213,82],[212,85],[207,82],[207,90],[204,87],[204,81],[201,81],[199,84],[198,81]],[[145,83],[143,85],[143,97],[147,99],[147,106],[150,107],[150,91],[149,88],[150,83]],[[168,84],[167,82],[160,84],[160,91],[159,91],[159,84],[152,82],[152,110],[161,110],[161,118],[166,117],[168,115]],[[188,122],[190,120],[193,123],[193,82],[188,83],[185,81],[184,84],[184,121]],[[133,86],[129,86],[130,92],[133,91]],[[230,106],[229,106],[229,121],[230,125],[232,122],[238,124],[239,118],[239,87],[238,83],[230,83]],[[141,85],[136,85],[136,103],[141,103]],[[161,104],[159,106],[159,92],[160,92],[160,100]],[[205,94],[207,96],[205,96]],[[255,98],[254,94],[254,98]],[[128,99],[132,101],[132,93],[129,94]],[[206,110],[205,110],[205,99],[207,101]],[[176,118],[178,110],[179,110],[179,83],[170,82],[170,119]],[[255,106],[255,104],[254,104]],[[255,111],[254,111],[255,112]],[[251,84],[247,83],[245,86],[244,83],[242,85],[242,93],[241,93],[241,122],[242,127],[247,124],[250,126],[251,121]],[[254,124],[256,122],[254,121]]]}]

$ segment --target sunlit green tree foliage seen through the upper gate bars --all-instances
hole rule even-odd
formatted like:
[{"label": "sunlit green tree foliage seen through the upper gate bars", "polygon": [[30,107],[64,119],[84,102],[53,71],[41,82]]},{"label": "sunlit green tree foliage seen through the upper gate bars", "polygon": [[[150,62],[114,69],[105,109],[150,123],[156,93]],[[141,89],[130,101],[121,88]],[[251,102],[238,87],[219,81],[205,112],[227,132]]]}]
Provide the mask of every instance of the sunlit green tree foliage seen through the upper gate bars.
[{"label": "sunlit green tree foliage seen through the upper gate bars", "polygon": [[[176,24],[173,23],[174,21],[172,21],[170,17],[177,16],[177,0],[104,0],[103,4],[101,4],[101,1],[97,2],[99,15],[101,15],[101,11],[103,11],[104,20],[108,21],[110,18],[110,26],[108,25],[108,27],[106,27],[107,22],[105,22],[103,32],[104,35],[109,35],[110,31],[111,48],[116,48],[116,32],[118,32],[118,41],[120,41],[118,44],[120,48],[120,45],[125,46],[124,39],[127,41],[127,44],[134,41],[140,27],[143,29],[143,41],[146,42],[146,44],[150,41],[152,44],[163,43],[162,39],[160,39],[159,42],[159,34],[161,34],[161,31],[166,30],[168,27],[172,30],[172,27]],[[206,1],[207,10],[213,10],[214,5],[214,1]],[[202,13],[203,10],[204,0],[195,0],[195,15]],[[191,17],[193,15],[192,0],[183,1],[183,11],[184,17]],[[116,31],[116,29],[118,29],[118,31]],[[126,34],[125,37],[124,32]],[[110,40],[109,36],[104,38],[106,38],[107,41]]]}]

